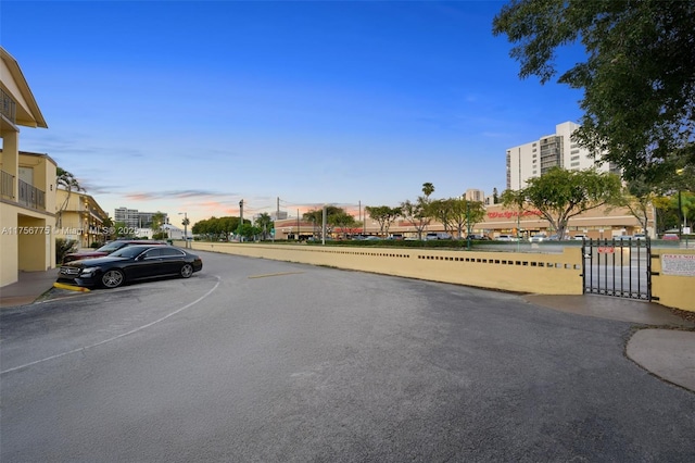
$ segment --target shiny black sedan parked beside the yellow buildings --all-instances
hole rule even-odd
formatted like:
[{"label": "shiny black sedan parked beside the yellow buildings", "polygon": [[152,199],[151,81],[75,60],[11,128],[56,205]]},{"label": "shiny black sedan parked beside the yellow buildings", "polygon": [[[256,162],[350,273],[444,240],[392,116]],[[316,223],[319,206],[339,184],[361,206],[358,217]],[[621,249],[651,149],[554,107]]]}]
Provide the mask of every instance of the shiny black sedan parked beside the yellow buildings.
[{"label": "shiny black sedan parked beside the yellow buildings", "polygon": [[173,246],[128,246],[105,258],[68,262],[61,266],[59,283],[117,288],[126,281],[162,276],[190,277],[203,261]]}]

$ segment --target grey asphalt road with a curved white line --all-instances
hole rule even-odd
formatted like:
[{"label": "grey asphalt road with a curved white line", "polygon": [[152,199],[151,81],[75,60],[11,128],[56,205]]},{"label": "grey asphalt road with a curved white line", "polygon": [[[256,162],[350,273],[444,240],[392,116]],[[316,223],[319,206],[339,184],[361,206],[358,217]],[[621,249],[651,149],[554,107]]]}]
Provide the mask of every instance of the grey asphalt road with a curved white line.
[{"label": "grey asphalt road with a curved white line", "polygon": [[2,312],[2,462],[695,461],[695,395],[624,355],[629,323],[201,255]]}]

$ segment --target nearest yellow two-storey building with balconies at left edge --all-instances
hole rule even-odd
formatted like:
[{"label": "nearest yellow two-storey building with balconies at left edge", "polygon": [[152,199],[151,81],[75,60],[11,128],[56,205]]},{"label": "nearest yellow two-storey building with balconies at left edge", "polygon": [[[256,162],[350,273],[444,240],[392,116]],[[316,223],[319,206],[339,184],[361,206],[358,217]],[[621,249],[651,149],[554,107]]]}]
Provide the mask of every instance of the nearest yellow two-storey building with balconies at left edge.
[{"label": "nearest yellow two-storey building with balconies at left edge", "polygon": [[21,271],[55,266],[55,170],[50,157],[20,151],[20,127],[48,128],[17,61],[0,47],[0,287]]}]

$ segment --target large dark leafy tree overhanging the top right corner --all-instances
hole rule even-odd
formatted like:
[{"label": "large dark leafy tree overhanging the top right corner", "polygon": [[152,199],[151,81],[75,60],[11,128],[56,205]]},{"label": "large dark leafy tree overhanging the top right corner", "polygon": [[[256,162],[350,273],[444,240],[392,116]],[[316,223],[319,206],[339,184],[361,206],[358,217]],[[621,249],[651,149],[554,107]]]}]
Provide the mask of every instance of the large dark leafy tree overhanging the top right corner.
[{"label": "large dark leafy tree overhanging the top right corner", "polygon": [[556,50],[581,41],[585,61],[558,82],[584,91],[579,142],[628,179],[657,182],[695,164],[695,2],[513,0],[493,33],[514,43],[520,77],[547,83]]}]

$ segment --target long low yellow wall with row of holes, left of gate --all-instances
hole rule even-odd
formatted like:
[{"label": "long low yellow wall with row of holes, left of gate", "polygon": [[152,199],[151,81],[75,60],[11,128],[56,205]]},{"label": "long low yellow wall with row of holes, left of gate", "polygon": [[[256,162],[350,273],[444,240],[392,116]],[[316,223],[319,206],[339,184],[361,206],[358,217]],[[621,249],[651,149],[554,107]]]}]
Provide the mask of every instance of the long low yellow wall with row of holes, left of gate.
[{"label": "long low yellow wall with row of holes, left of gate", "polygon": [[582,293],[580,248],[567,248],[563,254],[531,254],[194,242],[193,249],[506,291]]}]

